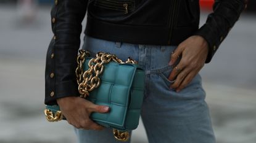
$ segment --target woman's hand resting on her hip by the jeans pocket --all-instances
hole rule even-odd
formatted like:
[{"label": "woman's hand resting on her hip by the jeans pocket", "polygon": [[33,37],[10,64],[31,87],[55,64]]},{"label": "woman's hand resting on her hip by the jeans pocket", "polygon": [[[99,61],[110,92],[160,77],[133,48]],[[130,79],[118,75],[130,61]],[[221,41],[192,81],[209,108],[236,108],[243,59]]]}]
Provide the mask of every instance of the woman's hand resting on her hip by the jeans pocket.
[{"label": "woman's hand resting on her hip by the jeans pocket", "polygon": [[208,43],[201,36],[191,36],[178,45],[169,64],[173,65],[180,56],[181,60],[168,77],[171,81],[175,80],[170,88],[179,92],[186,87],[204,66],[207,55]]}]

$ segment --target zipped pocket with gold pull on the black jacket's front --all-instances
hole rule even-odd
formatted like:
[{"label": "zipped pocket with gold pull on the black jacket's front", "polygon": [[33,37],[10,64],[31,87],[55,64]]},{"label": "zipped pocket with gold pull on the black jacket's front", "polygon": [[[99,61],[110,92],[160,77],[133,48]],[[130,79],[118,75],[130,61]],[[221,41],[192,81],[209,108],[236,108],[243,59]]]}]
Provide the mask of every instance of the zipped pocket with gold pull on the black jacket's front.
[{"label": "zipped pocket with gold pull on the black jacket's front", "polygon": [[128,14],[134,11],[134,0],[96,0],[94,6]]}]

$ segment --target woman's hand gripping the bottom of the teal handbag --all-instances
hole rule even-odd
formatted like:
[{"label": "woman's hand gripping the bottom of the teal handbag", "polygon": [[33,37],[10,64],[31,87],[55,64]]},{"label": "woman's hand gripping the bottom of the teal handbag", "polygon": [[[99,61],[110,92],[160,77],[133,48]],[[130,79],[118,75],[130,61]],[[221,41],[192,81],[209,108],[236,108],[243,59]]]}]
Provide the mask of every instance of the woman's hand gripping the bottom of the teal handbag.
[{"label": "woman's hand gripping the bottom of the teal handbag", "polygon": [[89,116],[92,112],[106,113],[109,107],[99,106],[80,97],[65,97],[57,99],[62,114],[67,118],[68,123],[76,128],[103,129],[102,126],[94,123]]}]

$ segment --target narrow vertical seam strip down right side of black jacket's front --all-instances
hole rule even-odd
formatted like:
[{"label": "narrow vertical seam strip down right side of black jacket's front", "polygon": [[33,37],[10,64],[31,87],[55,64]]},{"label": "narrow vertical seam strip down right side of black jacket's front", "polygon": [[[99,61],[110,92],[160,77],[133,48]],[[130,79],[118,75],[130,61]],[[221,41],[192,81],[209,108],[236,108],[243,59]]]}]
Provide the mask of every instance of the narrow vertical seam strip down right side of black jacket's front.
[{"label": "narrow vertical seam strip down right side of black jacket's front", "polygon": [[169,31],[169,37],[168,37],[168,45],[171,44],[171,37],[172,37],[172,33],[173,33],[173,26],[175,24],[175,19],[176,19],[176,9],[178,9],[178,3],[179,3],[179,0],[173,0],[173,3],[171,5],[171,17],[170,17],[170,31]]}]

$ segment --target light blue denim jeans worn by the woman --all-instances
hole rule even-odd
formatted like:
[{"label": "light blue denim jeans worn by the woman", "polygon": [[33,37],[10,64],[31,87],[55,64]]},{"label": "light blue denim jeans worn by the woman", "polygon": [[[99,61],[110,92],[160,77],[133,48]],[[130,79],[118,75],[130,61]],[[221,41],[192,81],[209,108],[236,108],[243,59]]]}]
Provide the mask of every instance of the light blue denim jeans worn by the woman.
[{"label": "light blue denim jeans worn by the woman", "polygon": [[[141,110],[150,143],[214,143],[209,109],[205,102],[199,74],[191,83],[176,93],[170,89],[168,66],[175,46],[139,45],[111,42],[85,37],[83,49],[96,54],[99,51],[114,53],[125,61],[129,56],[138,61],[146,72],[146,90]],[[75,129],[81,143],[114,143],[112,129],[91,131]]]}]

